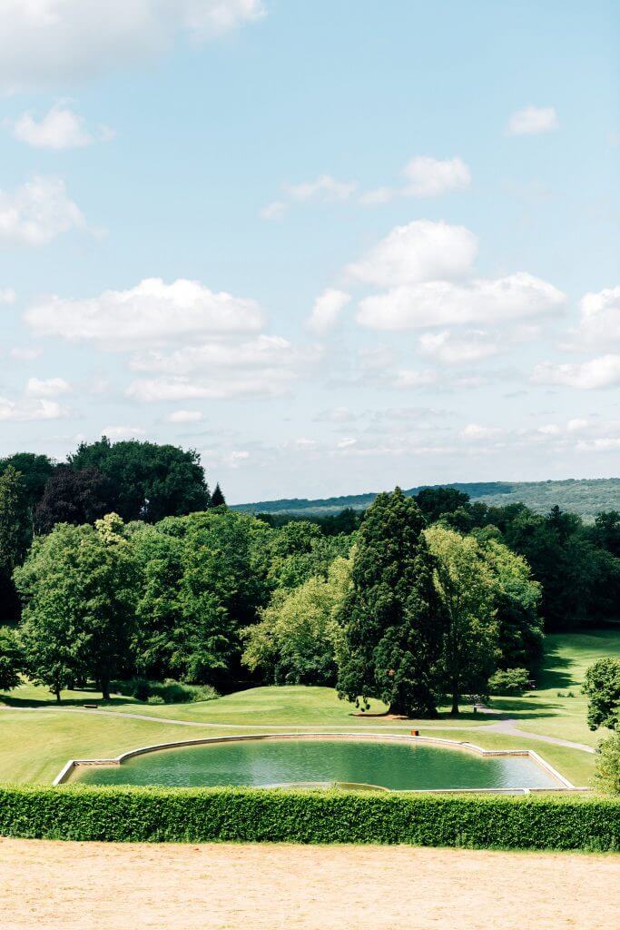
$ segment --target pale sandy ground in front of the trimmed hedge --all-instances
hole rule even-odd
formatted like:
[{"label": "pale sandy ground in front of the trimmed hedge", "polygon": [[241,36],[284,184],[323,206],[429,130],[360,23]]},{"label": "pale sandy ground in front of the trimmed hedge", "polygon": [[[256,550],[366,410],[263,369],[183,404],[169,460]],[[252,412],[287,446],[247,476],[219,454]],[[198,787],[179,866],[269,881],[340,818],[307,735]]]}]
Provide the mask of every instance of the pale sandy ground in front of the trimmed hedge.
[{"label": "pale sandy ground in front of the trimmed hedge", "polygon": [[620,857],[0,840],[3,930],[617,930]]}]

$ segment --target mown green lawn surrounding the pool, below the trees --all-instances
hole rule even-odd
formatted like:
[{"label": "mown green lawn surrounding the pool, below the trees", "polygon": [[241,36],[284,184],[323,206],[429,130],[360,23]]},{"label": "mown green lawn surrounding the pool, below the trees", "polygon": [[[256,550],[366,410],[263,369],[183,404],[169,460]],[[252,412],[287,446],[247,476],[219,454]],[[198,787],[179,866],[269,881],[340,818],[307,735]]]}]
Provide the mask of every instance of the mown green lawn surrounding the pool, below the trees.
[{"label": "mown green lawn surrounding the pool, below the trees", "polygon": [[[0,781],[50,782],[70,758],[114,756],[175,739],[284,729],[402,732],[416,725],[423,735],[468,739],[485,749],[534,749],[574,784],[587,785],[594,773],[594,755],[534,736],[597,745],[602,734],[587,729],[587,701],[580,683],[588,665],[609,655],[620,656],[620,632],[549,636],[538,690],[523,697],[494,698],[491,707],[498,715],[465,708],[454,718],[442,709],[434,721],[355,716],[355,708],[339,701],[332,688],[260,687],[197,704],[169,705],[125,697],[104,702],[91,691],[71,691],[57,707],[44,688],[23,684],[0,696]],[[85,710],[85,703],[97,703],[98,710]],[[371,712],[382,710],[373,702]],[[502,718],[514,721],[520,734],[497,732]]]}]

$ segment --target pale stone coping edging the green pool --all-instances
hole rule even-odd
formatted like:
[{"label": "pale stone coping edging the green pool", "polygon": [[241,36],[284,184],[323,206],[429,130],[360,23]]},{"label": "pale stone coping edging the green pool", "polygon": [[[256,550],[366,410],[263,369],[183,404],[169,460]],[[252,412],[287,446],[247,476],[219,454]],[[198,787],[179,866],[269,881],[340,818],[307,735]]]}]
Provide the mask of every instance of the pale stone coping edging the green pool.
[{"label": "pale stone coping edging the green pool", "polygon": [[[452,749],[461,749],[469,752],[475,752],[481,756],[526,756],[531,759],[535,764],[542,768],[548,776],[558,783],[557,788],[451,788],[451,789],[404,789],[409,791],[415,791],[416,793],[437,793],[437,794],[449,794],[449,793],[458,793],[458,794],[515,794],[523,793],[530,794],[536,791],[588,791],[588,788],[577,788],[575,787],[568,778],[565,778],[563,775],[558,772],[552,765],[548,764],[545,759],[542,758],[535,750],[484,750],[481,746],[477,746],[475,743],[470,743],[467,740],[460,739],[446,739],[443,737],[419,737],[413,735],[405,734],[396,734],[396,733],[257,733],[257,734],[244,734],[244,735],[235,735],[227,737],[198,737],[195,739],[177,739],[173,742],[166,743],[153,743],[150,746],[140,746],[139,749],[128,750],[126,752],[121,752],[120,755],[115,756],[112,759],[99,758],[99,759],[70,759],[65,763],[59,771],[59,774],[54,778],[52,785],[58,786],[65,784],[68,779],[72,776],[74,769],[83,765],[121,765],[127,759],[131,759],[134,756],[145,755],[147,752],[157,752],[160,750],[171,750],[178,749],[183,746],[201,746],[208,745],[209,743],[229,743],[229,742],[243,742],[247,740],[259,740],[259,739],[351,739],[351,740],[364,740],[368,739],[370,741],[383,741],[383,742],[405,742],[405,743],[432,743],[434,745],[444,746],[446,748]],[[275,787],[275,786],[270,786]],[[390,789],[386,789],[390,790]]]}]

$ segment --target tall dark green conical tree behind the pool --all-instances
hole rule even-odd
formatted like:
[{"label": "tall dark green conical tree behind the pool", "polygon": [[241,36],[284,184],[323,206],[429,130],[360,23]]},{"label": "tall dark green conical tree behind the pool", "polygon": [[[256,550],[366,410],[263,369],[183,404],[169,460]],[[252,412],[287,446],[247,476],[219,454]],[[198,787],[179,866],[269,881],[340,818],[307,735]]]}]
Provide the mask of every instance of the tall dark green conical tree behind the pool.
[{"label": "tall dark green conical tree behind the pool", "polygon": [[343,606],[339,697],[378,697],[399,714],[437,712],[444,613],[424,525],[415,500],[398,487],[366,512]]}]

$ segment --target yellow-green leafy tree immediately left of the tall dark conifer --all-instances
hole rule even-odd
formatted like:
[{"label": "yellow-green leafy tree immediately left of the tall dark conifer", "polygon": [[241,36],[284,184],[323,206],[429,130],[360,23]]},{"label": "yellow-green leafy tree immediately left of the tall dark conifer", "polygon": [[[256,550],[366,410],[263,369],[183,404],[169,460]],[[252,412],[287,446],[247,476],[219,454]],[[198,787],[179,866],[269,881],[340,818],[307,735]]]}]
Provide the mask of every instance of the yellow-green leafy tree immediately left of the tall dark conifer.
[{"label": "yellow-green leafy tree immediately left of the tall dark conifer", "polygon": [[243,636],[244,664],[275,684],[334,684],[342,605],[352,559],[336,558],[326,578],[308,578],[293,591],[277,589],[260,622]]}]

